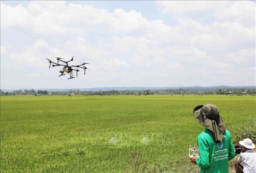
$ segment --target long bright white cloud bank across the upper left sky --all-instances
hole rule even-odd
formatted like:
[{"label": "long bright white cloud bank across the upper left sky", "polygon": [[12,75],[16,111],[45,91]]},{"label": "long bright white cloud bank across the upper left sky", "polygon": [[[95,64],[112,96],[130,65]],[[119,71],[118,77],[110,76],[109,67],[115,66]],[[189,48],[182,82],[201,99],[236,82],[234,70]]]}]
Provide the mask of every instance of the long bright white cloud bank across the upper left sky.
[{"label": "long bright white cloud bank across the upper left sky", "polygon": [[[69,34],[86,32],[87,24],[102,24],[113,32],[131,32],[146,27],[149,21],[141,13],[124,12],[117,8],[114,13],[89,5],[76,5],[65,1],[30,1],[22,5],[7,6],[1,2],[1,28],[25,27],[39,34]],[[79,25],[78,28],[75,26]]]}]

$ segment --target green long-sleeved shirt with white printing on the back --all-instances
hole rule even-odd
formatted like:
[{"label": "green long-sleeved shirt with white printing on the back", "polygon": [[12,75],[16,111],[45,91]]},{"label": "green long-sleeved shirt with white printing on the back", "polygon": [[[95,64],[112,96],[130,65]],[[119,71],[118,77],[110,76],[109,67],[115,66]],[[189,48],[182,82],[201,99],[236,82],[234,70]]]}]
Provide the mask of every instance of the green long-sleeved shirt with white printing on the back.
[{"label": "green long-sleeved shirt with white printing on the back", "polygon": [[228,173],[228,161],[235,158],[235,149],[228,130],[222,143],[214,141],[214,134],[207,128],[197,137],[199,154],[196,164],[200,173]]}]

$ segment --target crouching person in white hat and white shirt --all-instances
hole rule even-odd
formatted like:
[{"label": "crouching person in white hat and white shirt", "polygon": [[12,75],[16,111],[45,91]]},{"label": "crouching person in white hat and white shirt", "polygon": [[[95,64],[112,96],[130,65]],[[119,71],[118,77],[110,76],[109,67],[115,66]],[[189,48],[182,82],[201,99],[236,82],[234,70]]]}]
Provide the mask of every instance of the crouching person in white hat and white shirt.
[{"label": "crouching person in white hat and white shirt", "polygon": [[[255,149],[254,143],[249,138],[239,142],[243,146],[242,151],[237,158],[235,170],[237,173],[256,173],[256,153],[251,149]],[[240,164],[243,162],[243,166]]]}]

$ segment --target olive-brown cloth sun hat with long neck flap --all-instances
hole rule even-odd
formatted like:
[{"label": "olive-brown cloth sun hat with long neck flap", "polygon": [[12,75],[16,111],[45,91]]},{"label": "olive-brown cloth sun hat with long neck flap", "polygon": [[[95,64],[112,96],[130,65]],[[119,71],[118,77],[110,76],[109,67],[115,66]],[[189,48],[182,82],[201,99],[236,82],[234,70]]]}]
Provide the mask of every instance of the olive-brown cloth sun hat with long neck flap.
[{"label": "olive-brown cloth sun hat with long neck flap", "polygon": [[197,106],[193,110],[193,115],[196,121],[214,133],[216,143],[222,142],[226,128],[217,106],[214,104]]}]

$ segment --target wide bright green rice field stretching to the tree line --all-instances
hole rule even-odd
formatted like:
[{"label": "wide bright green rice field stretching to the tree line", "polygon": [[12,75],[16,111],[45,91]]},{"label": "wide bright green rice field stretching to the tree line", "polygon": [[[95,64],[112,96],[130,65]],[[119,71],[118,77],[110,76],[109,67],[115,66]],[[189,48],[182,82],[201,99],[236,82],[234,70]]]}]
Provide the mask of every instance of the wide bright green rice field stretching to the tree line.
[{"label": "wide bright green rice field stretching to the tree line", "polygon": [[1,96],[0,172],[197,170],[192,110],[206,103],[233,136],[255,120],[251,95]]}]

